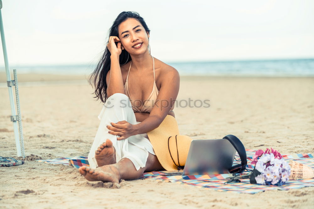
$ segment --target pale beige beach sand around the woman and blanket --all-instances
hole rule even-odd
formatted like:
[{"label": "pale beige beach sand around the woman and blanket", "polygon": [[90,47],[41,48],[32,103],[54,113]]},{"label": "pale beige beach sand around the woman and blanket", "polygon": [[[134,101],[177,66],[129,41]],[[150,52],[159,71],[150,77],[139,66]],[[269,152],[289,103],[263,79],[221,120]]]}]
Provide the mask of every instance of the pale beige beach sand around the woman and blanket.
[{"label": "pale beige beach sand around the woman and blanket", "polygon": [[[19,81],[41,81],[19,85],[26,155],[87,156],[101,110],[92,88],[84,78],[56,83],[58,76],[34,77],[19,76]],[[6,87],[0,88],[0,98],[0,156],[14,157]],[[181,77],[178,100],[188,98],[208,99],[210,107],[175,107],[181,134],[194,139],[233,134],[248,149],[314,154],[314,78]],[[73,167],[31,160],[0,168],[0,208],[312,208],[313,204],[314,187],[250,195],[149,179],[120,185],[88,182]]]}]

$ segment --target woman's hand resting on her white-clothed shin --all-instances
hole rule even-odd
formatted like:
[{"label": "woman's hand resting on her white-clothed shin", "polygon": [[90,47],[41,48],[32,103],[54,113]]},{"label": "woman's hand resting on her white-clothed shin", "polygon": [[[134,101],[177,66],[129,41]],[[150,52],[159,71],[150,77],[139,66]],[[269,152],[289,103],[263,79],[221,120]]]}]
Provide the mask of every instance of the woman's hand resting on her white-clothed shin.
[{"label": "woman's hand resting on her white-clothed shin", "polygon": [[110,123],[111,126],[106,126],[110,131],[108,133],[112,135],[120,136],[117,140],[129,138],[130,136],[136,135],[135,125],[128,123],[127,121],[119,121],[118,123]]}]

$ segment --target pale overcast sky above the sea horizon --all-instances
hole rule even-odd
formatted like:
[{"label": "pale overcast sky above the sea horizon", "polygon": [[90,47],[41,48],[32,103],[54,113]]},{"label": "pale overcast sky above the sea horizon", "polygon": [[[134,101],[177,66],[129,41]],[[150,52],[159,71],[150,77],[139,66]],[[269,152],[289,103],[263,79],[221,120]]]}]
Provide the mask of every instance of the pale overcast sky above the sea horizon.
[{"label": "pale overcast sky above the sea horizon", "polygon": [[145,19],[165,62],[314,58],[312,0],[2,2],[10,65],[95,63],[122,11]]}]

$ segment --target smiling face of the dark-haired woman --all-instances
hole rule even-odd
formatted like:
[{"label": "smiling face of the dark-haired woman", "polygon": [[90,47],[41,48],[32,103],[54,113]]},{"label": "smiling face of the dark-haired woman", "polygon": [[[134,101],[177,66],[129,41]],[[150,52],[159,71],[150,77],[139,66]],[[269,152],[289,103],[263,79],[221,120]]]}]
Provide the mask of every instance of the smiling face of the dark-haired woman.
[{"label": "smiling face of the dark-haired woman", "polygon": [[130,54],[139,55],[148,50],[149,34],[137,19],[129,18],[123,21],[118,32],[123,48]]}]

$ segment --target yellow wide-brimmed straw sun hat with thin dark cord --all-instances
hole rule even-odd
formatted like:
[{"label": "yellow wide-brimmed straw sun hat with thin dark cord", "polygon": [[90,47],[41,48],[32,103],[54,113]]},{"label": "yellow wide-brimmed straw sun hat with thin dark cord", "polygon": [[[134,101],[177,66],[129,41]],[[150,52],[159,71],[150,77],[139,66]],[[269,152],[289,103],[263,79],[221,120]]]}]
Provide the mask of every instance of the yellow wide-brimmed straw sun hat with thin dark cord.
[{"label": "yellow wide-brimmed straw sun hat with thin dark cord", "polygon": [[192,138],[180,135],[176,119],[167,115],[159,127],[147,133],[155,154],[165,170],[184,166]]}]

